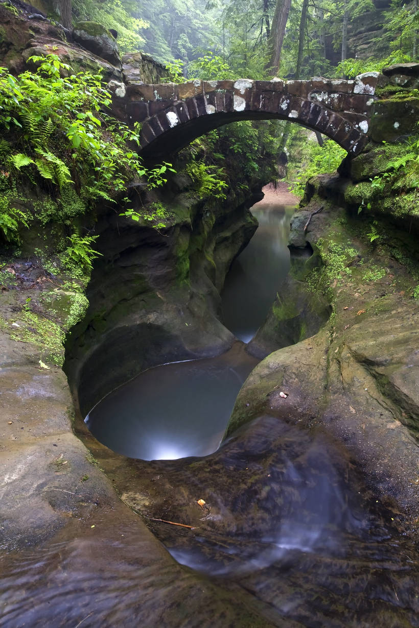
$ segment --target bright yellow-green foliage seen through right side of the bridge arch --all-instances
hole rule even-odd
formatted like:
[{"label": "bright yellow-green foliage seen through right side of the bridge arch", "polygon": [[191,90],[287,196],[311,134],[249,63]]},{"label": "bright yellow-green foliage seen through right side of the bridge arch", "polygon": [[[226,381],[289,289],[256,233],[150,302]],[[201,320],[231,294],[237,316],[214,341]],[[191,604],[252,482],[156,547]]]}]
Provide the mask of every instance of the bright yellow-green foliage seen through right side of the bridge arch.
[{"label": "bright yellow-green foliage seen through right side of the bridge arch", "polygon": [[332,139],[325,140],[323,146],[317,141],[308,141],[303,153],[302,170],[291,182],[290,192],[302,197],[306,181],[315,175],[334,172],[346,156],[346,151]]}]

